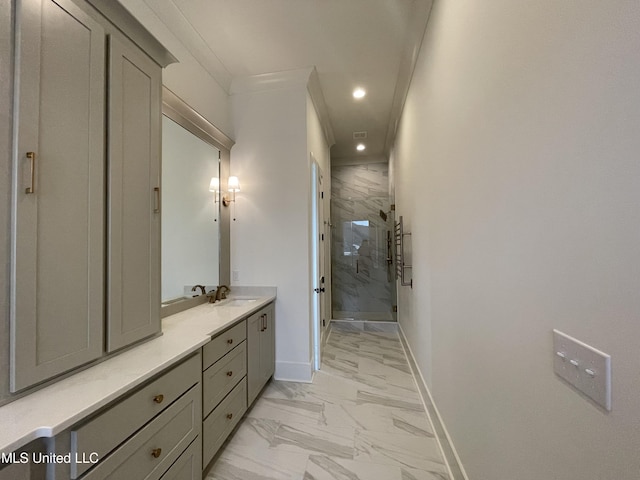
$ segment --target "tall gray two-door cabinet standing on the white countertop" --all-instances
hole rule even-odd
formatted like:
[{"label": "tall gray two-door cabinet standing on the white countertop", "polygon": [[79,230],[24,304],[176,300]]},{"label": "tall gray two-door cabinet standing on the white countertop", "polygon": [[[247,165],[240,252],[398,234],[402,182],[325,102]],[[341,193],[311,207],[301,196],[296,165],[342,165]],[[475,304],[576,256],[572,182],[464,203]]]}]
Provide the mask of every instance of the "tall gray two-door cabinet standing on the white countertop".
[{"label": "tall gray two-door cabinet standing on the white countertop", "polygon": [[171,56],[121,10],[137,43],[85,1],[17,2],[13,392],[160,331],[161,68]]}]

